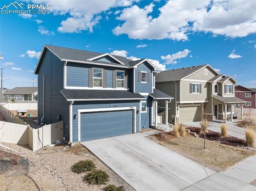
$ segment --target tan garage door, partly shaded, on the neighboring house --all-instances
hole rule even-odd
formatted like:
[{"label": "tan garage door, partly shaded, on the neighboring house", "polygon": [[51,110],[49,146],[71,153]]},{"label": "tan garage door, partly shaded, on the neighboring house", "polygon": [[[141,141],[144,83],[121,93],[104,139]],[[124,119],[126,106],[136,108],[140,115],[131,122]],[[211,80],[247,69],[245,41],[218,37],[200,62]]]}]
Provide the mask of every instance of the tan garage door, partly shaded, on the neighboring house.
[{"label": "tan garage door, partly shaded, on the neighboring house", "polygon": [[179,123],[199,121],[201,106],[180,107]]}]

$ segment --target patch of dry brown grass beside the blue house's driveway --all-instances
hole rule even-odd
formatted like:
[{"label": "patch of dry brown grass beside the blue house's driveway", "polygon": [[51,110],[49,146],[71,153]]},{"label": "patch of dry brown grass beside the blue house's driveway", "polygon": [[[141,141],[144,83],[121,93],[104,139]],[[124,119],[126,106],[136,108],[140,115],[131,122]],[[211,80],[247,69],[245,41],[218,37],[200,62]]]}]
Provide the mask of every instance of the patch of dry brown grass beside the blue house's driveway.
[{"label": "patch of dry brown grass beside the blue house's driveway", "polygon": [[[256,152],[242,148],[236,148],[206,140],[206,150],[204,150],[204,139],[195,138],[189,134],[186,137],[176,138],[172,132],[167,132],[164,139],[158,140],[154,136],[148,136],[151,140],[185,156],[210,169],[223,171],[243,159],[253,156]],[[213,168],[214,167],[214,168]]]}]

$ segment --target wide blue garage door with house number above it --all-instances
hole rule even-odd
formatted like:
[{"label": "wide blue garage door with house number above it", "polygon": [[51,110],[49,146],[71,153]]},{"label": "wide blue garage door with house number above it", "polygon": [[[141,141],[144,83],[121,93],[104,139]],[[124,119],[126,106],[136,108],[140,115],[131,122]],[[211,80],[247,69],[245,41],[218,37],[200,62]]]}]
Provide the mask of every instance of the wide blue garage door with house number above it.
[{"label": "wide blue garage door with house number above it", "polygon": [[81,142],[132,133],[132,115],[132,110],[81,113]]}]

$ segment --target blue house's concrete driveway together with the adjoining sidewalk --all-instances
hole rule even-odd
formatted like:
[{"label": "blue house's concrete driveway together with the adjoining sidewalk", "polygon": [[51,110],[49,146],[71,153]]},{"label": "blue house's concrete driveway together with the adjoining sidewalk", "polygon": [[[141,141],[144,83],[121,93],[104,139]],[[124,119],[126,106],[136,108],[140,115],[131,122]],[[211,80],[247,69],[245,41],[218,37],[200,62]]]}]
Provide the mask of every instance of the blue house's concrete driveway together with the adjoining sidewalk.
[{"label": "blue house's concrete driveway together with the adjoining sidewalk", "polygon": [[144,137],[154,132],[81,144],[137,191],[256,190],[256,156],[216,173]]}]

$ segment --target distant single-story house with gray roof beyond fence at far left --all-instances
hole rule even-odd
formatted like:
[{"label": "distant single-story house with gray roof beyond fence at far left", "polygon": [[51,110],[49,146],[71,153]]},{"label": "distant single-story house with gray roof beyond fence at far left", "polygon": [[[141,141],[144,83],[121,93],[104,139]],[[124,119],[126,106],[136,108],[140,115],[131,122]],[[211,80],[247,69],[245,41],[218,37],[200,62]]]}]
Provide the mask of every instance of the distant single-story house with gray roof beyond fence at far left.
[{"label": "distant single-story house with gray roof beyond fence at far left", "polygon": [[16,103],[37,101],[37,87],[15,87],[4,93],[9,103],[14,98]]}]

